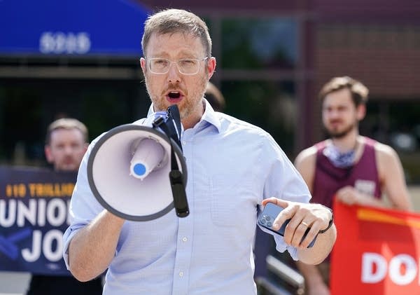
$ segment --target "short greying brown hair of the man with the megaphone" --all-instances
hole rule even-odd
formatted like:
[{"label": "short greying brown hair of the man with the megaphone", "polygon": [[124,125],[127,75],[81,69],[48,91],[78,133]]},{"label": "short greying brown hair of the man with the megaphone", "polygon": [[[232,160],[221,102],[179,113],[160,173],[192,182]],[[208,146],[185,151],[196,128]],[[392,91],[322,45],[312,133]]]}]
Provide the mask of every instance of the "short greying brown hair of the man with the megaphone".
[{"label": "short greying brown hair of the man with the megaphone", "polygon": [[211,57],[211,38],[206,23],[194,13],[181,9],[166,9],[150,15],[144,24],[141,49],[146,55],[146,47],[153,33],[157,34],[190,34],[198,37],[207,57]]}]

